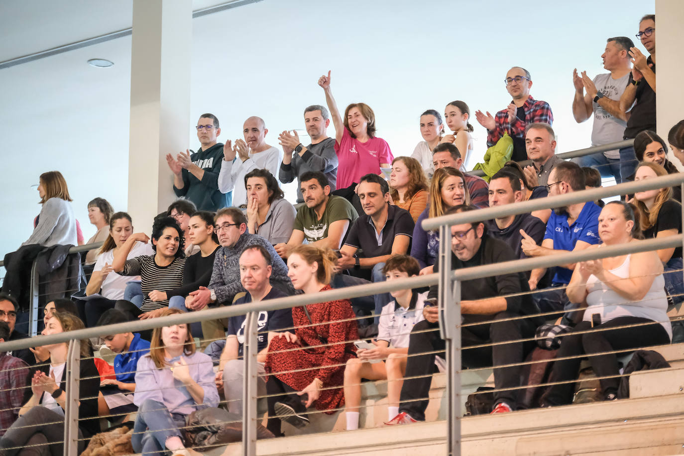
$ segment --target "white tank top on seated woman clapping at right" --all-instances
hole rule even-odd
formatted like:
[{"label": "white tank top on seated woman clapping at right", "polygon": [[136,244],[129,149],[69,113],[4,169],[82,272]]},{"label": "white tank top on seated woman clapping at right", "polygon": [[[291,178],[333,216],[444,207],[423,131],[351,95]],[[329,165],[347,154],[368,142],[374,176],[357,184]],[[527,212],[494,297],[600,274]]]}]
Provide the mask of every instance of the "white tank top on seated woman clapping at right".
[{"label": "white tank top on seated woman clapping at right", "polygon": [[[609,269],[619,278],[629,277],[629,260],[627,255],[622,265]],[[648,293],[641,301],[631,302],[615,291],[593,274],[587,280],[587,304],[584,311],[584,321],[592,321],[593,314],[601,315],[601,321],[610,321],[617,317],[640,317],[658,321],[663,325],[670,340],[672,340],[672,324],[668,317],[668,297],[665,293],[665,279],[658,274],[653,280]]]}]

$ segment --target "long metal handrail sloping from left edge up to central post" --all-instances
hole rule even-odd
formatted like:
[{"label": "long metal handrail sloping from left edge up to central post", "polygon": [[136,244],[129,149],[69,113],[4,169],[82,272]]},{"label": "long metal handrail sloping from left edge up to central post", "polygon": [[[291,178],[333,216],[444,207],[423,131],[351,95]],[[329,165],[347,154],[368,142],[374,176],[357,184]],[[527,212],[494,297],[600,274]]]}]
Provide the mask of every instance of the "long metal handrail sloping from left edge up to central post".
[{"label": "long metal handrail sloping from left edge up to central post", "polygon": [[36,345],[63,343],[68,342],[71,339],[86,339],[103,336],[106,334],[119,334],[122,332],[139,332],[143,330],[151,330],[160,326],[179,325],[181,323],[187,324],[194,323],[196,321],[218,320],[224,319],[226,317],[235,317],[235,315],[242,315],[246,314],[247,312],[279,310],[304,306],[306,304],[335,301],[337,299],[350,299],[352,297],[376,295],[378,293],[389,293],[393,290],[402,290],[408,288],[414,289],[420,288],[421,286],[435,285],[437,282],[437,274],[428,274],[426,276],[402,279],[401,281],[392,280],[390,282],[345,286],[341,289],[332,289],[329,291],[321,291],[319,293],[278,297],[276,299],[259,301],[258,303],[241,304],[239,306],[222,306],[219,308],[211,308],[209,310],[201,310],[200,312],[185,312],[182,314],[168,315],[166,317],[157,317],[140,321],[128,321],[126,323],[116,323],[114,325],[107,326],[88,327],[83,330],[3,342],[0,343],[0,353],[3,351],[36,347]]}]

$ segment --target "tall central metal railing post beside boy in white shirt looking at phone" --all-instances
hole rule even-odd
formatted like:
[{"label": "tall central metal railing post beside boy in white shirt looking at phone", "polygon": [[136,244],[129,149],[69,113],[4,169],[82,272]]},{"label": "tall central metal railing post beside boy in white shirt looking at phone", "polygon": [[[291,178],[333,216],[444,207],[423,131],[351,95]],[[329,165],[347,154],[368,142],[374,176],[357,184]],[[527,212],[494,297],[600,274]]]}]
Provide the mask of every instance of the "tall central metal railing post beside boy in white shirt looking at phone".
[{"label": "tall central metal railing post beside boy in white shirt looking at phone", "polygon": [[[453,282],[453,288],[452,288]],[[453,281],[451,271],[451,227],[439,227],[439,333],[445,340],[447,358],[447,455],[460,455],[460,373],[461,338],[457,321],[460,322],[460,287]],[[455,299],[456,298],[456,299]]]}]

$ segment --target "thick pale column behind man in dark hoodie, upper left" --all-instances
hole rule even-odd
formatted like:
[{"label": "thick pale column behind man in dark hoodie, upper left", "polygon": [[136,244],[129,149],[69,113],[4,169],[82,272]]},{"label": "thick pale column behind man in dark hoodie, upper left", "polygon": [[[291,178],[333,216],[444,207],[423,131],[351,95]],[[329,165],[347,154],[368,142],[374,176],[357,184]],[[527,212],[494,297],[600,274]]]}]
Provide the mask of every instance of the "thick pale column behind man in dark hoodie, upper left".
[{"label": "thick pale column behind man in dark hoodie, upper left", "polygon": [[135,230],[174,200],[166,154],[187,148],[192,0],[133,1],[128,211]]}]

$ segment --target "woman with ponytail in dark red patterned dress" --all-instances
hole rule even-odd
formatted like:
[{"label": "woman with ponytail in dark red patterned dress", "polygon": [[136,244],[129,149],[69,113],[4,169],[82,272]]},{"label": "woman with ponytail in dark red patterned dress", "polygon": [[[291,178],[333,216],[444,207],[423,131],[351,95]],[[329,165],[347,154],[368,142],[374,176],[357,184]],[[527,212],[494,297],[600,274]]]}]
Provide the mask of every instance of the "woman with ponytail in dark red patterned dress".
[{"label": "woman with ponytail in dark red patterned dress", "polygon": [[[287,275],[305,294],[328,291],[335,260],[337,255],[330,249],[300,245],[287,258]],[[347,299],[295,307],[292,320],[293,331],[269,334],[267,428],[276,437],[282,436],[281,419],[295,427],[306,426],[310,405],[327,414],[344,405],[344,366],[354,357],[352,340],[358,339]]]}]

